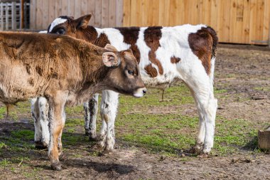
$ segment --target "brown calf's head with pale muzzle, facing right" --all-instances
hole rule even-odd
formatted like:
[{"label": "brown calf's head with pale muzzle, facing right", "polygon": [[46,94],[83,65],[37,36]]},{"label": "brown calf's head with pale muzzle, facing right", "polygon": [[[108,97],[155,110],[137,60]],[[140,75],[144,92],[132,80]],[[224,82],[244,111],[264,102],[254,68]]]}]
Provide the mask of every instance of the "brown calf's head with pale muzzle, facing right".
[{"label": "brown calf's head with pale muzzle, facing right", "polygon": [[109,51],[102,55],[104,65],[109,67],[109,73],[103,82],[106,88],[125,95],[142,97],[146,93],[146,88],[132,51],[117,51],[109,44],[105,46],[105,49]]}]

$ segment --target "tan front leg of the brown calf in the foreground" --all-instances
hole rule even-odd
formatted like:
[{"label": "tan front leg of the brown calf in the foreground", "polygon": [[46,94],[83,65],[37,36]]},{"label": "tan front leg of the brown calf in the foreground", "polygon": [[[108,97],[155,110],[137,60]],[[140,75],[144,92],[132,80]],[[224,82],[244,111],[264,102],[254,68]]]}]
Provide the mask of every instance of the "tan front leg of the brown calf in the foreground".
[{"label": "tan front leg of the brown calf in the foreground", "polygon": [[55,170],[62,169],[59,162],[58,140],[63,132],[63,113],[67,95],[68,92],[57,92],[49,98],[50,146],[48,157],[50,166]]}]

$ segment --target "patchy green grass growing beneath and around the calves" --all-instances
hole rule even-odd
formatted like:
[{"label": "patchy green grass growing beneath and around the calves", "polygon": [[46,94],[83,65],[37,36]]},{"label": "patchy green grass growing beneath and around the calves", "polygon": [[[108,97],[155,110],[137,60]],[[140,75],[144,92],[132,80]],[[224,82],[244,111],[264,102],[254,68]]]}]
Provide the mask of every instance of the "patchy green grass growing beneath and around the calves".
[{"label": "patchy green grass growing beneath and around the calves", "polygon": [[[197,111],[188,115],[182,113],[187,107],[194,107],[193,97],[188,88],[181,84],[166,89],[164,101],[161,101],[161,90],[149,89],[145,97],[134,98],[121,95],[119,112],[115,122],[116,137],[119,142],[144,147],[148,151],[164,154],[178,154],[180,149],[189,149],[195,144],[198,133]],[[227,90],[216,89],[215,95],[220,98],[232,98]],[[100,102],[100,97],[99,97]],[[184,105],[184,106],[183,106]],[[183,109],[184,108],[184,109]],[[84,110],[82,105],[66,107],[67,120],[63,133],[63,147],[89,145],[84,131]],[[4,118],[5,107],[0,107],[0,117]],[[18,103],[13,113],[18,118],[28,117],[31,120],[30,103]],[[97,132],[99,132],[100,117],[98,116]],[[33,123],[32,120],[30,123]],[[215,130],[215,147],[213,154],[227,155],[242,149],[258,152],[257,128],[266,127],[269,123],[258,125],[257,122],[236,119],[227,120],[217,116]],[[0,137],[0,155],[3,149],[18,153],[35,149],[33,145],[34,132],[30,129],[12,131],[8,137]],[[93,152],[90,155],[97,155]],[[80,154],[75,154],[80,157]],[[12,161],[11,161],[12,160]],[[13,163],[8,159],[2,164]],[[17,162],[20,161],[17,159]]]}]

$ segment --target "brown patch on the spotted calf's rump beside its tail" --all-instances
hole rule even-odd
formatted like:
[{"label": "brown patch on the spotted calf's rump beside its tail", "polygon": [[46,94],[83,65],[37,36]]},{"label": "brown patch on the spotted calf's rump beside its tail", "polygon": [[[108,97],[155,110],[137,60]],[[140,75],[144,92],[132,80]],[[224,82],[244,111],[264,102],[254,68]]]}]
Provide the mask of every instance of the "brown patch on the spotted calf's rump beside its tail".
[{"label": "brown patch on the spotted calf's rump beside its tail", "polygon": [[202,28],[197,33],[190,33],[188,43],[191,50],[202,61],[206,73],[210,74],[211,58],[215,56],[217,35],[212,28]]}]

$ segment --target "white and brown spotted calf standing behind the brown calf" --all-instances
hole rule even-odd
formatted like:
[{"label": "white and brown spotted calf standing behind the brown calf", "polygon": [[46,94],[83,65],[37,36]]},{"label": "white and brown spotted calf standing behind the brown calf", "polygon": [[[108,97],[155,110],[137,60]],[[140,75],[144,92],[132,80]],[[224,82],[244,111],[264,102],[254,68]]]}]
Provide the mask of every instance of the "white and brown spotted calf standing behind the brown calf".
[{"label": "white and brown spotted calf standing behind the brown calf", "polygon": [[[188,85],[198,107],[199,133],[195,149],[209,153],[213,147],[217,100],[213,92],[217,35],[209,26],[189,24],[174,27],[95,28],[87,26],[91,15],[74,19],[56,18],[48,33],[65,34],[104,47],[130,48],[139,63],[141,78],[148,87],[166,88],[175,80]],[[85,130],[96,138],[97,97],[85,103]],[[118,94],[102,91],[102,129],[99,144],[114,148],[114,120]],[[36,129],[37,130],[37,129]]]}]

